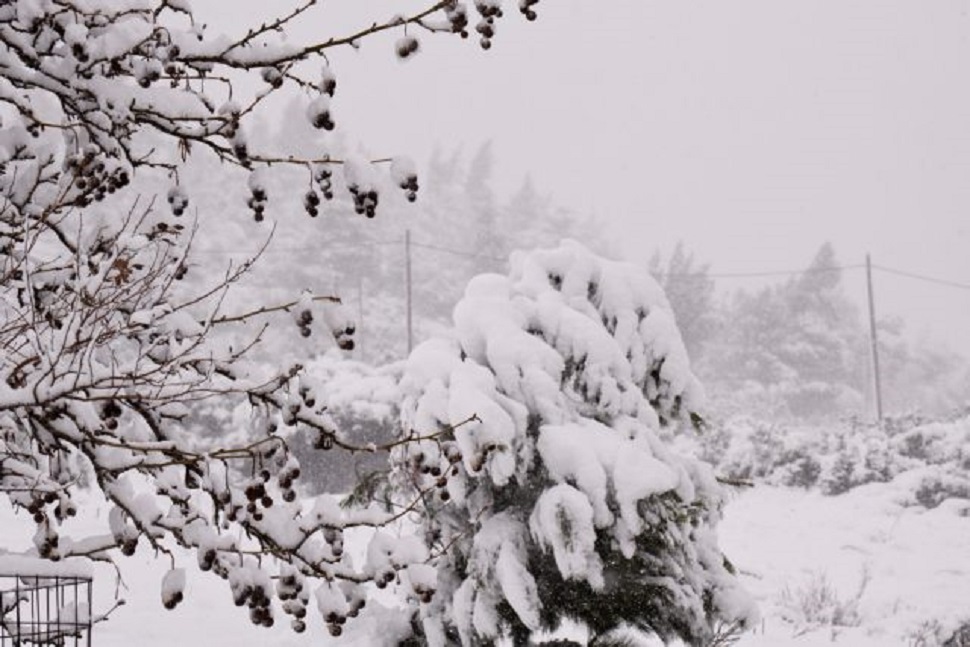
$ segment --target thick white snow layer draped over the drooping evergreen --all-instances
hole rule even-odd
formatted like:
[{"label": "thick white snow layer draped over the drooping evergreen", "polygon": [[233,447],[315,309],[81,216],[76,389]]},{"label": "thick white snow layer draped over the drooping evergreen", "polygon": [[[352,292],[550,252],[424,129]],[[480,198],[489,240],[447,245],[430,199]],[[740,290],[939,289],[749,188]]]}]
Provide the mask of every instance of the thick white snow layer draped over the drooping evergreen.
[{"label": "thick white snow layer draped over the drooping evergreen", "polygon": [[[656,519],[639,504],[667,493],[706,510],[697,531],[681,539],[697,544],[685,558],[698,569],[686,578],[691,589],[710,587],[725,615],[754,617],[707,527],[719,517],[719,486],[657,433],[697,411],[702,393],[669,303],[642,268],[572,241],[516,253],[509,276],[468,284],[454,324],[450,338],[421,344],[406,362],[402,425],[416,436],[450,431],[461,451],[463,469],[446,484],[450,502],[429,523],[448,533],[458,532],[449,524],[476,520],[450,549],[467,560],[464,573],[439,574],[446,622],[464,642],[503,634],[502,602],[526,627],[539,625],[529,542],[552,552],[564,580],[602,590],[597,537],[606,533],[632,557],[637,536]],[[403,446],[395,463],[402,480],[432,488],[434,479],[415,465],[448,465],[451,457],[443,444],[417,445]],[[502,496],[516,497],[511,506],[522,513],[496,514],[496,492],[516,488],[521,496]],[[424,625],[434,644],[441,625],[431,613]]]}]

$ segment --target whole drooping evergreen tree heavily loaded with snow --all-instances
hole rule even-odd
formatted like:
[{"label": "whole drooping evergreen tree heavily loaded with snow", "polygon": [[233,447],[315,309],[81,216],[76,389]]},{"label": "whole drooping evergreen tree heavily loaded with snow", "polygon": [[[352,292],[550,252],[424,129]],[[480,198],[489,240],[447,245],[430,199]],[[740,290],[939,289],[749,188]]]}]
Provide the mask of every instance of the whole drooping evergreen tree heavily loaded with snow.
[{"label": "whole drooping evergreen tree heavily loaded with snow", "polygon": [[660,287],[574,242],[511,265],[471,281],[402,380],[405,437],[440,430],[393,455],[438,560],[412,640],[522,645],[569,618],[705,644],[750,622],[721,488],[660,437],[701,404]]}]

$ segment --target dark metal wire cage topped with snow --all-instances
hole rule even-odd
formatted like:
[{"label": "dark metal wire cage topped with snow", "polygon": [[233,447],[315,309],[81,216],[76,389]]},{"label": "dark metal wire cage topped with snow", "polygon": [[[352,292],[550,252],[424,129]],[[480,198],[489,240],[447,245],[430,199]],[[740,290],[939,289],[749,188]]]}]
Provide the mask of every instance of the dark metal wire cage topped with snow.
[{"label": "dark metal wire cage topped with snow", "polygon": [[91,578],[0,573],[0,647],[91,647]]}]

